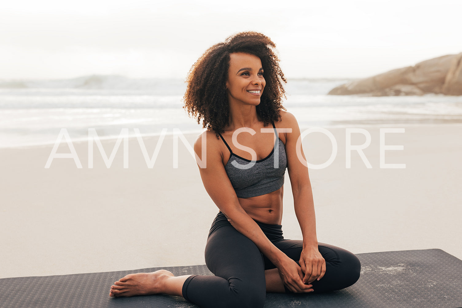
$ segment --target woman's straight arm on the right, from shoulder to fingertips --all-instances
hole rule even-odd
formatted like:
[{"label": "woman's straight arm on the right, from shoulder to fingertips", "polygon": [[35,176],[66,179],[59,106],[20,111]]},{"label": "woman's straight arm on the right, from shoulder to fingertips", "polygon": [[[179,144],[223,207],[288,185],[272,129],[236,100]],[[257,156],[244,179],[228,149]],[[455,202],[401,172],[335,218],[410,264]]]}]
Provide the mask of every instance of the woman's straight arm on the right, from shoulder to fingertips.
[{"label": "woman's straight arm on the right, from shoulder to fingertips", "polygon": [[300,255],[299,264],[304,272],[303,282],[311,283],[324,276],[326,262],[318,250],[313,193],[308,175],[308,167],[301,161],[301,159],[306,161],[301,144],[299,146],[302,157],[297,156],[297,141],[300,137],[300,128],[292,114],[283,112],[282,115],[283,118],[280,127],[292,128],[292,133],[286,133],[286,155],[287,170],[292,185],[295,215],[297,216],[303,235],[303,250]]}]

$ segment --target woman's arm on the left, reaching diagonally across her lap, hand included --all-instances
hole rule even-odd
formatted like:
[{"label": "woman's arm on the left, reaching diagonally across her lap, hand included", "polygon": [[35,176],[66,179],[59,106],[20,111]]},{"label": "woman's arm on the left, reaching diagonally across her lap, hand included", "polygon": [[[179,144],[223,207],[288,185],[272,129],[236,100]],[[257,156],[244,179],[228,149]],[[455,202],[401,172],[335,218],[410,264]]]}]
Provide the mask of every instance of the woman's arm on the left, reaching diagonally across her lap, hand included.
[{"label": "woman's arm on the left, reaching diagonally across her lap, hand included", "polygon": [[231,225],[244,236],[248,237],[258,249],[279,269],[283,283],[292,292],[308,292],[302,283],[303,272],[295,261],[281,252],[268,240],[257,223],[243,210],[239,204],[236,192],[226,174],[223,165],[223,149],[216,139],[215,133],[204,132],[194,144],[194,151],[201,157],[202,138],[207,138],[207,168],[200,168],[202,182],[207,193],[219,210],[225,214]]}]

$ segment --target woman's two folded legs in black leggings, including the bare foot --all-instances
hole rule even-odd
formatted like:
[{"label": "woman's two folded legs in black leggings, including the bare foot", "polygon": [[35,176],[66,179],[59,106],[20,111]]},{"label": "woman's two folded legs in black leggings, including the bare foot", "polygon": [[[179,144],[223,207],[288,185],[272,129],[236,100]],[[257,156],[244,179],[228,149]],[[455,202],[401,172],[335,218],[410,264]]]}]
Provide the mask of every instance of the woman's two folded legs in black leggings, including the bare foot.
[{"label": "woman's two folded legs in black leggings, including the bare foot", "polygon": [[[283,240],[275,243],[292,260],[298,261],[302,241]],[[350,252],[328,244],[319,244],[326,260],[326,274],[313,282],[317,292],[339,290],[359,278],[359,260]],[[164,293],[183,296],[201,307],[262,307],[266,292],[287,291],[274,265],[262,257],[247,237],[231,225],[222,226],[207,241],[207,267],[215,276],[186,275],[175,277],[160,270],[130,274],[117,281],[110,296],[134,296]],[[267,270],[265,270],[267,269]],[[221,304],[223,303],[223,304]]]}]

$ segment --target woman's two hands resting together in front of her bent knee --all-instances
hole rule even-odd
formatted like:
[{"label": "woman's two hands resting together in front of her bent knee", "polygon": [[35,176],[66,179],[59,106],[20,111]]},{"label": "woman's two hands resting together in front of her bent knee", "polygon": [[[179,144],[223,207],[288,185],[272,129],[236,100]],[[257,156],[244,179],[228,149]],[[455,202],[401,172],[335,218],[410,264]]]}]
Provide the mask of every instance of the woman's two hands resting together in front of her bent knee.
[{"label": "woman's two hands resting together in front of her bent knee", "polygon": [[279,275],[287,289],[294,293],[313,291],[312,282],[320,280],[326,272],[326,261],[316,248],[304,248],[297,262],[287,257],[278,266]]}]

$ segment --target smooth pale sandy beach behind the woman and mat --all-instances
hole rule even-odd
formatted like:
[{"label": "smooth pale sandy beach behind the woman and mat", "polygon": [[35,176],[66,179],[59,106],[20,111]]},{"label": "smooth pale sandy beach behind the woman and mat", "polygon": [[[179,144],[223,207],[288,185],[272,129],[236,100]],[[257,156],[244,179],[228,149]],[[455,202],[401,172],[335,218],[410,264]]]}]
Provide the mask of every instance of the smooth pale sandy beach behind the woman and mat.
[{"label": "smooth pale sandy beach behind the woman and mat", "polygon": [[[319,242],[355,254],[440,248],[462,259],[462,125],[354,126],[371,134],[346,168],[346,128],[327,128],[338,145],[327,168],[310,169]],[[380,128],[387,133],[380,168]],[[192,145],[195,136],[185,135]],[[145,137],[152,155],[158,137]],[[88,168],[88,143],[74,142],[82,168],[72,158],[55,158],[53,145],[0,149],[0,278],[106,272],[155,266],[204,264],[208,229],[218,208],[205,191],[198,167],[181,140],[173,167],[172,135],[167,135],[152,169],[137,139],[122,145],[108,169],[96,145]],[[352,144],[365,141],[352,136]],[[109,156],[115,140],[103,140]],[[326,135],[304,138],[312,164],[324,163],[332,146]],[[58,152],[69,153],[62,142]],[[284,236],[301,239],[286,174]]]}]

